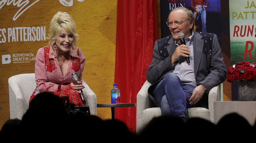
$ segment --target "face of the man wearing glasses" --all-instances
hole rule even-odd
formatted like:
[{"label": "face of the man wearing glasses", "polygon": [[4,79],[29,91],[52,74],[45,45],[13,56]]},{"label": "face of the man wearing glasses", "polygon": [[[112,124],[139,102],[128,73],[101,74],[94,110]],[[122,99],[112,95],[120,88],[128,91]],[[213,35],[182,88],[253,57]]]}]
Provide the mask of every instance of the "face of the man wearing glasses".
[{"label": "face of the man wearing glasses", "polygon": [[193,21],[187,20],[186,14],[183,10],[180,9],[173,11],[172,13],[170,13],[168,20],[172,22],[175,22],[177,20],[183,20],[181,21],[180,26],[177,26],[175,23],[172,23],[172,26],[169,27],[169,30],[176,41],[180,42],[180,39],[178,37],[180,33],[183,33],[185,35],[184,38],[187,38],[192,35],[191,29],[193,26]]}]

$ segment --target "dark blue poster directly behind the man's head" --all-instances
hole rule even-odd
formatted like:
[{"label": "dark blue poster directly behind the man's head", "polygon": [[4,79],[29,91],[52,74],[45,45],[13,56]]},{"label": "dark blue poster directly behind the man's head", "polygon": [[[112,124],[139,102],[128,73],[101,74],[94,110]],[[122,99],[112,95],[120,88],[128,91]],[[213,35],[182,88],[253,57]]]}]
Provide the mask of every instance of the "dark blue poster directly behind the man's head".
[{"label": "dark blue poster directly behind the man's head", "polygon": [[[167,26],[169,12],[176,7],[185,7],[194,13],[197,32],[214,33],[221,44],[221,2],[220,0],[160,0],[161,38],[171,33]],[[198,8],[201,7],[202,9]],[[200,9],[196,13],[196,9]]]}]

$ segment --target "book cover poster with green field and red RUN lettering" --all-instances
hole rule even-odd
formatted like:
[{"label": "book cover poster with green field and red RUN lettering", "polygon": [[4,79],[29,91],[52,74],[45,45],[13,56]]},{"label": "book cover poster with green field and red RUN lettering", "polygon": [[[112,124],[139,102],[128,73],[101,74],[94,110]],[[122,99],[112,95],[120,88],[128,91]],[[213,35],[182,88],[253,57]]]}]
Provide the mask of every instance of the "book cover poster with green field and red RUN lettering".
[{"label": "book cover poster with green field and red RUN lettering", "polygon": [[256,1],[229,0],[230,60],[256,62]]}]

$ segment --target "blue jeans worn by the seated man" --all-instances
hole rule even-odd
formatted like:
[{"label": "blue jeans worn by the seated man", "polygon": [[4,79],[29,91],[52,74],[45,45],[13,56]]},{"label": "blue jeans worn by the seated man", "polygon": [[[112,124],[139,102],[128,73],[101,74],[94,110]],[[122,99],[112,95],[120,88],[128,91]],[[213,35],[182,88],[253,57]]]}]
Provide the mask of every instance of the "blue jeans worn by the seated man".
[{"label": "blue jeans worn by the seated man", "polygon": [[186,109],[194,107],[188,101],[194,89],[192,85],[182,84],[180,78],[170,72],[156,86],[153,96],[163,116],[186,118]]}]

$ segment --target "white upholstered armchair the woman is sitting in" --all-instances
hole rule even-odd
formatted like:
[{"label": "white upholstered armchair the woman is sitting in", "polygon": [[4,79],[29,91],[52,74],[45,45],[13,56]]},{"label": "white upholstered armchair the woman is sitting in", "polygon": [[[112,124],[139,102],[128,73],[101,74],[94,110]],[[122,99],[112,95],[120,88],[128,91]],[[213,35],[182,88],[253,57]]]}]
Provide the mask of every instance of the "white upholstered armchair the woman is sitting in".
[{"label": "white upholstered armchair the woman is sitting in", "polygon": [[[23,115],[29,108],[29,99],[32,95],[36,83],[34,73],[23,73],[10,77],[9,98],[10,98],[10,118],[22,119]],[[90,114],[97,114],[96,95],[90,87],[83,81],[83,93],[86,99],[86,104],[89,106]]]}]

